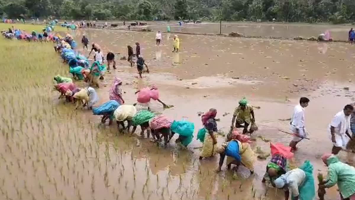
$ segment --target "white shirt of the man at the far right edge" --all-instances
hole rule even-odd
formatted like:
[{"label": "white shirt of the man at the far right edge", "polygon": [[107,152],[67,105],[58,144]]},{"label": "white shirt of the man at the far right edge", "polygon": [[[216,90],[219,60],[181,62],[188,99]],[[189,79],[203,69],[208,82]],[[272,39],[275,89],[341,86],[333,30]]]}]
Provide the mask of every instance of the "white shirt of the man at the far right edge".
[{"label": "white shirt of the man at the far right edge", "polygon": [[344,135],[346,130],[351,135],[350,130],[350,116],[345,116],[344,111],[340,111],[334,115],[331,123],[329,124],[329,131],[331,126],[334,127],[335,134],[337,135]]}]

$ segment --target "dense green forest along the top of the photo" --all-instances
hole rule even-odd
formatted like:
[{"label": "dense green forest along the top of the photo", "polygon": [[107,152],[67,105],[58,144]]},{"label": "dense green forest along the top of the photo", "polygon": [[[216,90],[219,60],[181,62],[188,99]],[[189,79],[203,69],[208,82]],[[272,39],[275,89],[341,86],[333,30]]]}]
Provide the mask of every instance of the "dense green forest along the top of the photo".
[{"label": "dense green forest along the top of the photo", "polygon": [[86,20],[355,21],[355,0],[0,0],[10,18]]}]

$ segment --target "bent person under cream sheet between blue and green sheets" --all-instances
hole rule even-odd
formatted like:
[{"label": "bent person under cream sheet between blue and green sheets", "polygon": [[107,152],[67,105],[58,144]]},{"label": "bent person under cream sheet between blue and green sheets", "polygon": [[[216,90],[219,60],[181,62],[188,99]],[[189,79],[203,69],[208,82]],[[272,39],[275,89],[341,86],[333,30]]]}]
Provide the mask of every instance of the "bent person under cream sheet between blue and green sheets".
[{"label": "bent person under cream sheet between blue and green sheets", "polygon": [[[133,105],[121,105],[115,110],[114,116],[117,121],[117,129],[121,132],[125,130],[125,121],[127,121],[127,133],[132,125],[132,118],[137,114],[136,107]],[[120,129],[120,125],[122,128]]]}]

